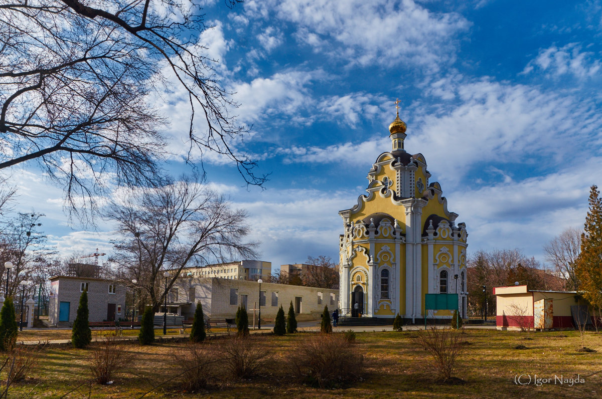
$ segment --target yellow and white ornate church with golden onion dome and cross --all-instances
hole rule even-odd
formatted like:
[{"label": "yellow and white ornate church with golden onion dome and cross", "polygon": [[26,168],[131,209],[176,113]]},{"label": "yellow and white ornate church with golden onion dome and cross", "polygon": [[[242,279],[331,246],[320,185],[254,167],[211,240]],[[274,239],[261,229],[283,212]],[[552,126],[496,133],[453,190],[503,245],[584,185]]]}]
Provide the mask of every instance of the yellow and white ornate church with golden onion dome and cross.
[{"label": "yellow and white ornate church with golden onion dome and cross", "polygon": [[[344,209],[340,235],[340,308],[368,317],[424,318],[424,294],[458,293],[467,307],[467,230],[447,210],[441,185],[430,182],[426,160],[404,148],[406,123],[389,126],[392,149],[368,172],[367,194]],[[353,309],[356,308],[355,311]],[[449,318],[450,311],[428,317]],[[418,319],[418,320],[417,320]]]}]

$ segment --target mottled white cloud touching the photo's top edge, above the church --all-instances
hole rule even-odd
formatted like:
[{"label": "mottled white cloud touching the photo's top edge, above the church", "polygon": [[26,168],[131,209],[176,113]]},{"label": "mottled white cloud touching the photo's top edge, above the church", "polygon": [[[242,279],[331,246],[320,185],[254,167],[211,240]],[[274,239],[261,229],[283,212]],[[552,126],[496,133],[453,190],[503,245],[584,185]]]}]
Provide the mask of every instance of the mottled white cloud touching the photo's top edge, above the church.
[{"label": "mottled white cloud touching the photo's top edge, above the church", "polygon": [[[470,27],[458,13],[435,13],[412,0],[260,0],[246,3],[251,17],[268,18],[272,10],[297,25],[297,39],[338,48],[333,57],[362,66],[412,64],[439,69],[455,59],[456,37]],[[316,37],[317,35],[319,37]]]}]

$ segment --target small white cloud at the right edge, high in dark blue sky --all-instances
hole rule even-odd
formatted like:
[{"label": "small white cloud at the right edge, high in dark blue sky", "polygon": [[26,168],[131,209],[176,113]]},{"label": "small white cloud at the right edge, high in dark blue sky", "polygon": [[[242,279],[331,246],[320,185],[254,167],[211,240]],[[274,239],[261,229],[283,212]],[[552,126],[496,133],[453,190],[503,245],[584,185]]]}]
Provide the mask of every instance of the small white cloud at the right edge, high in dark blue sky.
[{"label": "small white cloud at the right edge, high in dark blue sky", "polygon": [[523,73],[541,70],[555,77],[573,75],[584,79],[600,75],[601,66],[602,63],[594,58],[593,52],[582,52],[578,43],[569,43],[560,48],[551,46],[541,49],[538,56],[527,64]]}]

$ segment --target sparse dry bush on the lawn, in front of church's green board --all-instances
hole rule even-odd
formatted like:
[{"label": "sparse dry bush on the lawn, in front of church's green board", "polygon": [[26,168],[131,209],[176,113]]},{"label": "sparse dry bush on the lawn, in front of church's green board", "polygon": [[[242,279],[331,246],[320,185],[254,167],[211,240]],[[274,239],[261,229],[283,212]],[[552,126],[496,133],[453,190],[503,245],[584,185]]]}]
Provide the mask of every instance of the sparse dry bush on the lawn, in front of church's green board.
[{"label": "sparse dry bush on the lawn, in front of church's green board", "polygon": [[467,347],[462,341],[462,331],[430,327],[430,329],[420,331],[413,339],[417,345],[423,347],[432,356],[430,363],[439,376],[444,381],[450,380],[456,360]]}]

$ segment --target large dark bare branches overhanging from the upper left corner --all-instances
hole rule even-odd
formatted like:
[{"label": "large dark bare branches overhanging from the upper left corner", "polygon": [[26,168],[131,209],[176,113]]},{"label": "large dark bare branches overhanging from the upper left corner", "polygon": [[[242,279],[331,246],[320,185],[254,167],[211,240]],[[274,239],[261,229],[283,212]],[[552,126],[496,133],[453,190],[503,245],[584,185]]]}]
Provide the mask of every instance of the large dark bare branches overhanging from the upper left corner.
[{"label": "large dark bare branches overhanging from the upper left corner", "polygon": [[[228,0],[229,5],[239,0]],[[234,149],[247,133],[199,35],[196,0],[7,0],[0,5],[0,169],[37,161],[73,211],[95,206],[107,179],[156,184],[163,158],[161,88],[190,103],[185,139],[230,158],[249,184],[255,165]],[[200,122],[196,117],[200,114]],[[201,126],[197,128],[197,126]]]}]

